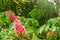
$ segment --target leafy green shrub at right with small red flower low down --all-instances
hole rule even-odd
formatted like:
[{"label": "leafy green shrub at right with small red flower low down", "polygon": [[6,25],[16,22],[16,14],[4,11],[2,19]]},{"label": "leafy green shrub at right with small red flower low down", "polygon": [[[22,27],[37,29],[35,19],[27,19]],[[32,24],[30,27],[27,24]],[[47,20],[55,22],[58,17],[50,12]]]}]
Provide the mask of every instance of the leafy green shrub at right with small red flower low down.
[{"label": "leafy green shrub at right with small red flower low down", "polygon": [[[46,24],[41,26],[37,31],[37,34],[41,34],[41,36],[46,36],[46,40],[58,40],[60,37],[60,17],[57,18],[51,18],[47,21]],[[53,33],[52,33],[53,32]],[[52,35],[53,34],[53,35]],[[55,36],[54,36],[55,35]]]}]

